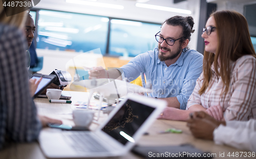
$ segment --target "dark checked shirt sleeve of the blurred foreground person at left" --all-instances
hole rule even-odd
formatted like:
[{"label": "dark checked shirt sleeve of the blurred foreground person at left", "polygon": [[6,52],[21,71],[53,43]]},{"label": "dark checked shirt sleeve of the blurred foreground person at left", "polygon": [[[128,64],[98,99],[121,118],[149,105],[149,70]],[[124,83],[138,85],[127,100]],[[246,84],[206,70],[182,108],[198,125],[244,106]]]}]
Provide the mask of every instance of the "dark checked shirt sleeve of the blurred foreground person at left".
[{"label": "dark checked shirt sleeve of the blurred foreground person at left", "polygon": [[26,41],[16,28],[0,25],[0,148],[5,139],[30,142],[41,124],[30,97]]}]

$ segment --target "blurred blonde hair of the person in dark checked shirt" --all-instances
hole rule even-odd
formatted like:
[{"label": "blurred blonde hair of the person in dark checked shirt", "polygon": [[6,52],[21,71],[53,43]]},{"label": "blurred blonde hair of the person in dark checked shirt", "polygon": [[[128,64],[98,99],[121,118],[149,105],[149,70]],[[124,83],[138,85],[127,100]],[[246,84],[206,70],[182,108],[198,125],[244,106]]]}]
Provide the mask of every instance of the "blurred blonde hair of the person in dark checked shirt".
[{"label": "blurred blonde hair of the person in dark checked shirt", "polygon": [[[23,29],[25,26],[28,12],[22,12],[22,9],[22,7],[9,7],[5,10],[3,5],[0,3],[0,22],[16,26],[19,29]],[[19,12],[19,10],[20,13],[15,14],[16,12]],[[10,14],[11,16],[6,16],[7,14]]]}]

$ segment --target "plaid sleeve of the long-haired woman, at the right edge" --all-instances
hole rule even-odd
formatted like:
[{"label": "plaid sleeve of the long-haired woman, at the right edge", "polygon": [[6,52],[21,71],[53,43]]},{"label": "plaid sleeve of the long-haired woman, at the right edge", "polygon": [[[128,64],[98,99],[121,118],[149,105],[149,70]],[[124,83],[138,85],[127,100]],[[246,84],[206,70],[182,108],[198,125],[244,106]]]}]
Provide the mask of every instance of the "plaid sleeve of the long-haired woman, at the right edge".
[{"label": "plaid sleeve of the long-haired woman, at the right edge", "polygon": [[225,120],[248,120],[256,97],[256,59],[244,56],[237,61],[231,81],[228,107],[224,112]]}]

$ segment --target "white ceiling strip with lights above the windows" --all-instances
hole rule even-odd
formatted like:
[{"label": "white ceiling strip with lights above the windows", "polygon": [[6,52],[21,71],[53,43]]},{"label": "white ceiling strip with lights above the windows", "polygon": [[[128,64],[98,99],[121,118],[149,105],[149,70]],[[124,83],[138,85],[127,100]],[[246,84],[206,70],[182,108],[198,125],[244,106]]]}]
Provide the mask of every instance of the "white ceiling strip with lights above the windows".
[{"label": "white ceiling strip with lights above the windows", "polygon": [[[83,0],[83,1],[87,1],[87,0]],[[200,2],[200,0],[188,0],[188,1]],[[93,6],[87,6],[87,5],[70,4],[70,3],[66,3],[66,0],[54,0],[54,1],[41,0],[40,3],[34,8],[162,23],[163,21],[165,21],[165,19],[169,17],[175,16],[175,15],[186,16],[187,14],[139,8],[135,6],[136,3],[144,2],[144,4],[148,4],[148,5],[172,7],[172,8],[185,9],[185,10],[194,9],[194,7],[191,7],[191,5],[189,5],[188,1],[174,4],[173,0],[150,0],[150,1],[147,1],[147,0],[97,0],[98,3],[115,4],[115,5],[124,6],[123,10],[118,10],[118,9],[110,9],[110,8],[102,8],[102,7],[93,7]],[[195,4],[199,4],[199,3],[195,3]]]}]

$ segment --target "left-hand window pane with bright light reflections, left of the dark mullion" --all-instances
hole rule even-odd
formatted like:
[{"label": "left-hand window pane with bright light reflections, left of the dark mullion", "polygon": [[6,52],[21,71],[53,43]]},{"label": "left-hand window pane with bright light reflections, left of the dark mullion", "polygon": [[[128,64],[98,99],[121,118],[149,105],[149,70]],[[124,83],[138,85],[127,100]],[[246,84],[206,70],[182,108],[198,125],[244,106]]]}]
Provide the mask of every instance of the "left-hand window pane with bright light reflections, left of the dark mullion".
[{"label": "left-hand window pane with bright light reflections, left of the dark mullion", "polygon": [[37,48],[87,52],[100,48],[105,54],[108,17],[40,10]]}]

